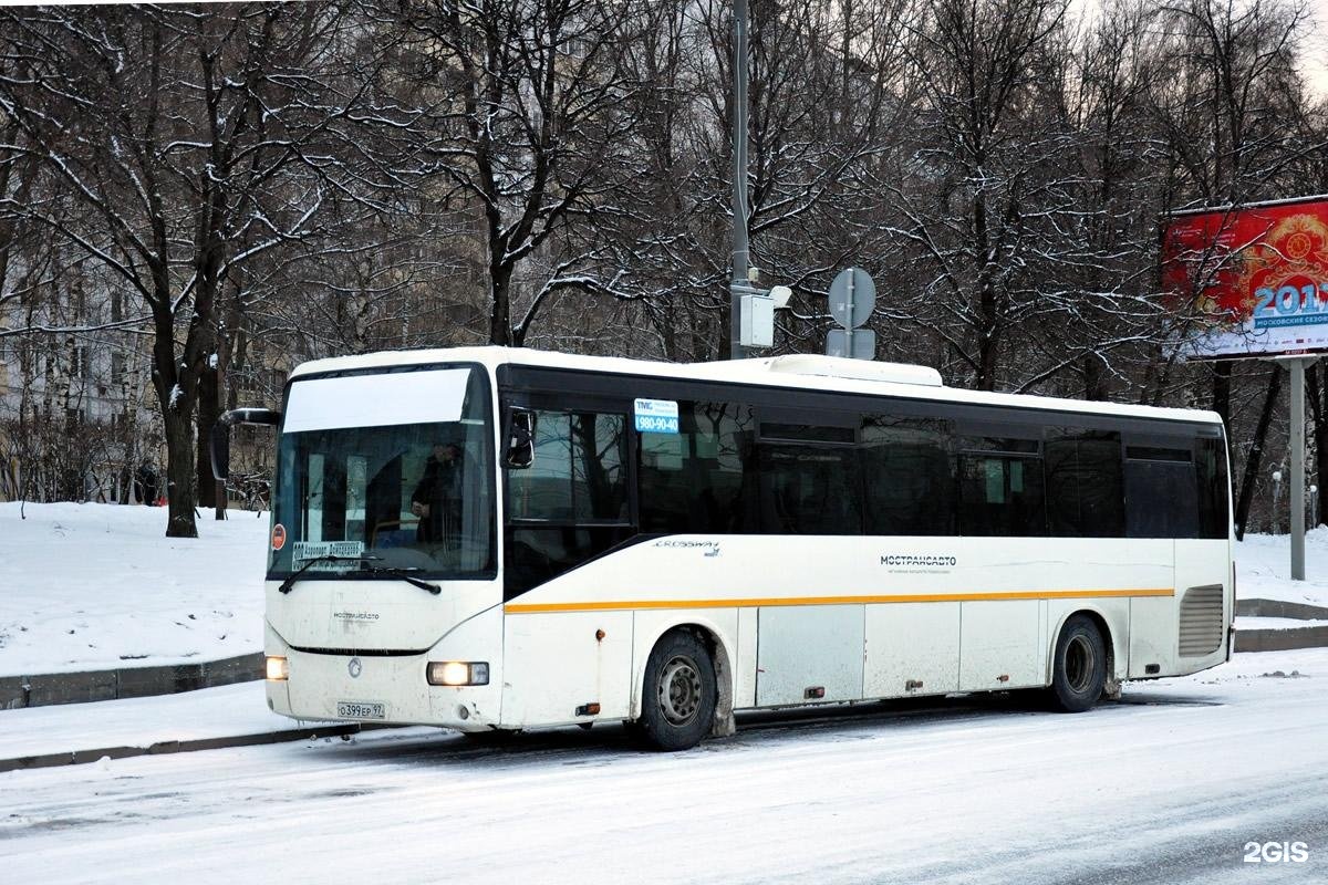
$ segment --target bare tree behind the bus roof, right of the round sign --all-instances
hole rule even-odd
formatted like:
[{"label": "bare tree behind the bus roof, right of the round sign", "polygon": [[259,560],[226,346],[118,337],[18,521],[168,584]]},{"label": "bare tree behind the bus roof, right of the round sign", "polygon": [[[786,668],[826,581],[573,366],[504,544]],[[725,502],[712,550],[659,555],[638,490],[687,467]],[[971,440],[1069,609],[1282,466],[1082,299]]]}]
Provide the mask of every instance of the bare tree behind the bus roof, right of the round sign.
[{"label": "bare tree behind the bus roof, right of the round sign", "polygon": [[1066,5],[930,0],[918,28],[926,138],[912,180],[892,190],[899,235],[931,281],[904,310],[984,390],[1000,381],[1007,340],[1050,306],[1033,269],[1066,241],[1057,216],[1076,208],[1062,167],[1074,142],[1049,113],[1058,84],[1046,82]]}]

